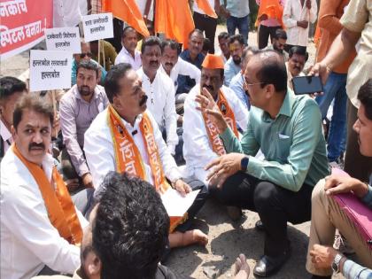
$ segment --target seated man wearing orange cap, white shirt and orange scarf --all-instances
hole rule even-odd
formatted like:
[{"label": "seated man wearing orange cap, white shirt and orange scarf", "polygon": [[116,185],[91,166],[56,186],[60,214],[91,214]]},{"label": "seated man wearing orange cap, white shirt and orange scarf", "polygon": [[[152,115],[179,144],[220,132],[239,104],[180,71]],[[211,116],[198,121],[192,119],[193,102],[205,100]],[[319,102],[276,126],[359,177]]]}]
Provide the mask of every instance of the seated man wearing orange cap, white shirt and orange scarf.
[{"label": "seated man wearing orange cap, white shirt and orange scarf", "polygon": [[184,105],[183,157],[188,174],[205,185],[208,185],[205,165],[226,151],[213,123],[198,111],[196,98],[203,90],[208,91],[236,136],[237,126],[245,130],[248,122],[247,109],[236,94],[223,85],[223,67],[221,56],[208,54],[202,64],[200,84],[191,89]]}]

